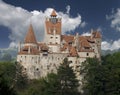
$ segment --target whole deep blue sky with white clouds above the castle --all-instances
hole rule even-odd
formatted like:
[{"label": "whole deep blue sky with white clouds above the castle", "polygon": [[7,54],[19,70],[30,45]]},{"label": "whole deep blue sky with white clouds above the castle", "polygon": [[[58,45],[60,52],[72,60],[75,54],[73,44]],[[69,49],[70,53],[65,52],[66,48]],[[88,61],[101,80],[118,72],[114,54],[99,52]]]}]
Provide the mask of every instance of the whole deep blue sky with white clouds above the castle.
[{"label": "whole deep blue sky with white clouds above the castle", "polygon": [[99,30],[102,49],[120,48],[120,0],[0,0],[0,48],[23,41],[30,23],[42,41],[44,19],[53,8],[62,17],[63,33]]}]

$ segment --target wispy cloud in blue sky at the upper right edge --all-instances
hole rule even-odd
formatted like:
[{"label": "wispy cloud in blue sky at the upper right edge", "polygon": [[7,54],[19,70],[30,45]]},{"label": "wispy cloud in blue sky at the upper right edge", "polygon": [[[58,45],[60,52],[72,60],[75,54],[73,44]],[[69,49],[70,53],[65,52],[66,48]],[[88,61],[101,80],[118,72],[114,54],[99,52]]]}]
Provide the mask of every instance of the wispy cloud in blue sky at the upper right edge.
[{"label": "wispy cloud in blue sky at the upper right edge", "polygon": [[106,15],[107,20],[111,20],[111,27],[120,32],[120,8],[117,11],[112,11],[112,15]]}]

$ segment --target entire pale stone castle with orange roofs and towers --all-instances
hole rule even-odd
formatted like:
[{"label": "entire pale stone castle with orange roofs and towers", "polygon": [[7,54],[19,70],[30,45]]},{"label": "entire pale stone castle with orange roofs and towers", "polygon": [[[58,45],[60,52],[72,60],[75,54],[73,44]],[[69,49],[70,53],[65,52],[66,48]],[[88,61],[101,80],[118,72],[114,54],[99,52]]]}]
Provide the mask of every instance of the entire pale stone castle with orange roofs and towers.
[{"label": "entire pale stone castle with orange roofs and towers", "polygon": [[101,58],[101,34],[91,31],[90,36],[62,35],[62,19],[55,10],[45,20],[45,37],[37,42],[32,25],[28,29],[24,43],[18,47],[17,62],[23,67],[30,79],[46,76],[56,69],[64,58],[71,62],[77,78],[80,80],[79,67],[86,58]]}]

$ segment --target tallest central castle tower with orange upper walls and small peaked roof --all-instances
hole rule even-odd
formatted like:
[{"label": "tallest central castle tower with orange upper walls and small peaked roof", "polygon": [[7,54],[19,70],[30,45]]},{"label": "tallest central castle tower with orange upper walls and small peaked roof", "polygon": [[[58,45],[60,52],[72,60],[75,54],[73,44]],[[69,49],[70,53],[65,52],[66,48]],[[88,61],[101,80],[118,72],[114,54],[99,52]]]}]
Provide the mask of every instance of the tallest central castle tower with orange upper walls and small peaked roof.
[{"label": "tallest central castle tower with orange upper walls and small peaked roof", "polygon": [[57,17],[55,10],[45,21],[45,42],[51,52],[59,52],[61,44],[61,18]]}]

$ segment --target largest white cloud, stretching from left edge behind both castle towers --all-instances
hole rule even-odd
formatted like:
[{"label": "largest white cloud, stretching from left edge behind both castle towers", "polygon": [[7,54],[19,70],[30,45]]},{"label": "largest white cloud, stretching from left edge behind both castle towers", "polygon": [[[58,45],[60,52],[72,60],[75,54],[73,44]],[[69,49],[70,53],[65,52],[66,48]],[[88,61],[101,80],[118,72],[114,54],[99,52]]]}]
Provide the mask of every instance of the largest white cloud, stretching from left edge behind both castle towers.
[{"label": "largest white cloud, stretching from left edge behind both castle towers", "polygon": [[[28,11],[21,7],[6,4],[0,0],[0,25],[6,26],[11,30],[9,35],[11,40],[10,47],[16,46],[19,41],[23,41],[30,23],[33,25],[37,40],[43,40],[45,17],[49,16],[52,10],[52,8],[46,8],[45,11]],[[73,31],[81,23],[81,16],[77,15],[77,17],[72,18],[69,15],[69,11],[70,6],[68,5],[67,13],[57,12],[58,16],[62,18],[63,34]]]}]

